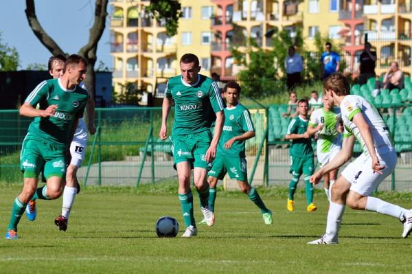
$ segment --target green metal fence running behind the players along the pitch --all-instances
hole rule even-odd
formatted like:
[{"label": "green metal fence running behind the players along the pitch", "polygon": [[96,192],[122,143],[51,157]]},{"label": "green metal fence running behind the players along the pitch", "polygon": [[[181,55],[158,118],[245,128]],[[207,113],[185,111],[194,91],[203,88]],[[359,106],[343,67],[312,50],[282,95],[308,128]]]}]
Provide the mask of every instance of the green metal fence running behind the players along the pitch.
[{"label": "green metal fence running behind the players along the pitch", "polygon": [[[282,117],[285,105],[265,109],[249,107],[256,137],[247,141],[249,181],[253,185],[287,185],[289,142],[284,140],[289,119]],[[380,108],[396,141],[398,164],[380,190],[412,190],[412,104]],[[22,180],[19,171],[21,142],[31,119],[18,111],[0,111],[0,181]],[[171,129],[173,112],[168,129]],[[139,185],[176,178],[169,141],[158,138],[160,108],[97,109],[98,131],[89,136],[86,158],[78,171],[84,185]],[[360,147],[356,145],[354,155]],[[225,179],[227,187],[234,181]],[[319,186],[321,187],[321,186]]]}]

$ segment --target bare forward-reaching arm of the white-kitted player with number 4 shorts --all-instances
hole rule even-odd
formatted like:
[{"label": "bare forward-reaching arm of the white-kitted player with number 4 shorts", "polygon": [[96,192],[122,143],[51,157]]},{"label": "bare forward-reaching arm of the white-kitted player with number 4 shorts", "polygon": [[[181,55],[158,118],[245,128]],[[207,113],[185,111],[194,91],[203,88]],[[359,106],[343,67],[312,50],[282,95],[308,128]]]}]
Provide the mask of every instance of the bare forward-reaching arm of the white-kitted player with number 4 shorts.
[{"label": "bare forward-reaching arm of the white-kitted player with number 4 shorts", "polygon": [[343,138],[342,149],[339,153],[326,165],[317,172],[314,172],[312,176],[310,176],[310,183],[317,184],[321,180],[324,174],[328,174],[332,170],[336,170],[344,165],[347,161],[349,161],[352,157],[352,151],[354,149],[355,144],[355,136],[350,135]]}]

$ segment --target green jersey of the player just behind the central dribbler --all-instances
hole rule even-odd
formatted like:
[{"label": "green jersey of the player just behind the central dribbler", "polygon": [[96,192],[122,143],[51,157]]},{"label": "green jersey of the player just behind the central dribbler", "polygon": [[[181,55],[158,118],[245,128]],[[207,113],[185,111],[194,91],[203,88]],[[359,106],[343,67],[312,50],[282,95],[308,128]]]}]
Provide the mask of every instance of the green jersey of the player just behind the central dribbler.
[{"label": "green jersey of the player just behind the central dribbler", "polygon": [[237,104],[231,108],[225,108],[225,124],[223,125],[222,136],[218,144],[218,153],[238,155],[246,157],[244,144],[245,141],[235,141],[231,148],[227,150],[225,143],[235,136],[242,135],[248,131],[255,131],[251,119],[251,113],[242,104]]}]

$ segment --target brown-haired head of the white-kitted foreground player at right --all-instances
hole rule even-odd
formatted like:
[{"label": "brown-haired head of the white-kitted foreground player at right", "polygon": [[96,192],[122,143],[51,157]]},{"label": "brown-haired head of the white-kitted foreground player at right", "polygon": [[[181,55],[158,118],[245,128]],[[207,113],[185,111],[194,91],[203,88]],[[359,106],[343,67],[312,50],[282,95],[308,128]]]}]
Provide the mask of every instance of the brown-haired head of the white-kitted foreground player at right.
[{"label": "brown-haired head of the white-kitted foreground player at right", "polygon": [[331,106],[338,104],[337,97],[350,94],[350,84],[341,73],[333,73],[323,80],[323,97],[328,99]]}]

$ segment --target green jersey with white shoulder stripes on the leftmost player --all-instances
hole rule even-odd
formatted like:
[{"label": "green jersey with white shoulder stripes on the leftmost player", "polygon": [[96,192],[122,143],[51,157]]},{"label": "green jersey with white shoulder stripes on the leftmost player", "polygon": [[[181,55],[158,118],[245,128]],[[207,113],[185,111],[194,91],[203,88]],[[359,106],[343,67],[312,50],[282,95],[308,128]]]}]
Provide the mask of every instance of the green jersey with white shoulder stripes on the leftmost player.
[{"label": "green jersey with white shoulder stripes on the leftmost player", "polygon": [[32,106],[39,104],[40,109],[47,109],[57,104],[53,117],[36,117],[30,124],[30,135],[40,137],[49,143],[66,146],[71,139],[69,136],[73,122],[82,117],[84,107],[89,99],[85,89],[76,86],[73,90],[62,87],[60,79],[45,80],[27,96],[25,103]]}]

